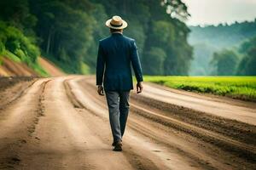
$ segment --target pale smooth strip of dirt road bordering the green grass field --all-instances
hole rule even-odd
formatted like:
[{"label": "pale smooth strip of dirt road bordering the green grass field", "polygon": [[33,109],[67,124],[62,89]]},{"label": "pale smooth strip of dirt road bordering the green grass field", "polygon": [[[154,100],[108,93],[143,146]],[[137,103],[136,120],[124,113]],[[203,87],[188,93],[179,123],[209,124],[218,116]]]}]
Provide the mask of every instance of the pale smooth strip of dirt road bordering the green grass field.
[{"label": "pale smooth strip of dirt road bordering the green grass field", "polygon": [[[226,119],[236,120],[237,122],[244,122],[256,126],[256,108],[253,103],[247,102],[247,106],[237,105],[237,102],[231,102],[229,99],[218,99],[214,101],[207,97],[199,97],[196,94],[188,95],[189,93],[172,93],[166,88],[155,88],[155,86],[148,86],[145,84],[145,90],[142,94],[147,99],[157,99],[171,105],[184,107],[192,111],[199,111],[211,114],[212,116],[221,116]],[[230,101],[230,104],[225,102]],[[249,105],[250,104],[250,105]],[[254,108],[254,109],[253,109]]]}]

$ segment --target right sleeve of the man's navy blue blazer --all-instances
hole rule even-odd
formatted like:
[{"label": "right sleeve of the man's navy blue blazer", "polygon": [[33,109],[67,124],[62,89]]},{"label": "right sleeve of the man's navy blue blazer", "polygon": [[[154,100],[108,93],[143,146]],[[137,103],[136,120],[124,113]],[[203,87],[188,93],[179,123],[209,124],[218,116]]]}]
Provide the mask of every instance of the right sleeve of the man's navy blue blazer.
[{"label": "right sleeve of the man's navy blue blazer", "polygon": [[131,65],[135,73],[137,82],[143,82],[142,66],[137,53],[137,45],[134,40],[131,42]]}]

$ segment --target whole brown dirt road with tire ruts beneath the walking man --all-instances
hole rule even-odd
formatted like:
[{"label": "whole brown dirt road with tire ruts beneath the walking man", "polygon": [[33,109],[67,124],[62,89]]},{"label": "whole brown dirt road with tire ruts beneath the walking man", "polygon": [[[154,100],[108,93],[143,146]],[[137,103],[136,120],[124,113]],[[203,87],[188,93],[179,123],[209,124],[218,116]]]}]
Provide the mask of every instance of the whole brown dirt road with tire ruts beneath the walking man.
[{"label": "whole brown dirt road with tire ruts beneath the walking man", "polygon": [[131,94],[124,151],[113,152],[94,77],[20,91],[0,104],[0,169],[256,169],[253,103],[145,84]]}]

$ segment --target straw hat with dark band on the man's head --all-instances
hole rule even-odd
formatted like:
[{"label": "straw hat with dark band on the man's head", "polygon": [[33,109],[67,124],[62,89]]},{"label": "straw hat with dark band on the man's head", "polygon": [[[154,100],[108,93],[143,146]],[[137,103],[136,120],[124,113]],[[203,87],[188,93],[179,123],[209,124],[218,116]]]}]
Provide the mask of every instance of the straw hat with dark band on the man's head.
[{"label": "straw hat with dark band on the man's head", "polygon": [[109,19],[106,21],[106,26],[109,28],[113,28],[116,30],[124,29],[128,26],[127,22],[125,20],[122,20],[121,17],[114,15],[112,19]]}]

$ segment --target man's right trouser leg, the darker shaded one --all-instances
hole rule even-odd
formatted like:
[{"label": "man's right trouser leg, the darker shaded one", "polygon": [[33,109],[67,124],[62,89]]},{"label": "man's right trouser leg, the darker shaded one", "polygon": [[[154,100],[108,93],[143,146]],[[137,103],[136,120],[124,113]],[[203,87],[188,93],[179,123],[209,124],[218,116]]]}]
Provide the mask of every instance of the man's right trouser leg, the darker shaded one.
[{"label": "man's right trouser leg, the darker shaded one", "polygon": [[119,92],[119,122],[120,122],[120,129],[121,129],[121,135],[123,136],[125,133],[125,125],[127,122],[127,117],[129,114],[129,97],[130,97],[130,91],[123,91]]}]

